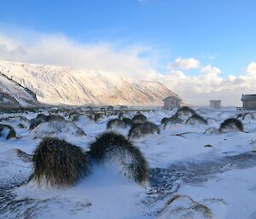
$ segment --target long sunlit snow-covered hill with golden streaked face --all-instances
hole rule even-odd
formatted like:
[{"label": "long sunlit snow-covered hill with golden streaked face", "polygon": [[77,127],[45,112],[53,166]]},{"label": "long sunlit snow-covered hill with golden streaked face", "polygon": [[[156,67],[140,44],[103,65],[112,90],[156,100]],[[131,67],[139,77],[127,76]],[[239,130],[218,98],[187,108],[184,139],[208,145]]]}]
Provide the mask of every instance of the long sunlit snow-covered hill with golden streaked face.
[{"label": "long sunlit snow-covered hill with golden streaked face", "polygon": [[158,82],[133,80],[106,72],[72,67],[40,66],[0,61],[0,72],[49,104],[162,105],[176,95]]}]

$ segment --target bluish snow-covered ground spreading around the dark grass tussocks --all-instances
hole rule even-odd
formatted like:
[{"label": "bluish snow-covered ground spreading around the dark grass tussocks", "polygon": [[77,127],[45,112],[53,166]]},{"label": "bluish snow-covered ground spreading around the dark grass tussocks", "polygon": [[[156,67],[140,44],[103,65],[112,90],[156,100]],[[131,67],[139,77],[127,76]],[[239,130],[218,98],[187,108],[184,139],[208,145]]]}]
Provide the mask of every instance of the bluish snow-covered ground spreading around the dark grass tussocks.
[{"label": "bluish snow-covered ground spreading around the dark grass tussocks", "polygon": [[[24,119],[35,118],[35,112],[11,115],[24,118],[2,119],[0,124],[11,124],[17,138],[0,138],[0,218],[256,219],[256,119],[252,114],[241,119],[244,132],[218,133],[224,119],[236,118],[234,108],[195,111],[208,124],[169,124],[164,129],[161,119],[176,110],[143,112],[148,121],[160,125],[159,135],[132,139],[149,164],[145,186],[126,179],[110,164],[93,167],[89,176],[73,187],[26,184],[32,173],[27,154],[33,153],[42,136],[50,131],[86,151],[90,142],[106,131],[108,120],[117,116],[97,122],[79,119],[65,124],[63,130],[61,125],[49,130],[45,123],[36,131],[28,130]],[[252,113],[256,117],[256,112]],[[0,119],[8,116],[2,114]],[[74,135],[73,127],[86,135]],[[211,127],[215,130],[208,130]],[[118,131],[127,135],[128,130]],[[16,149],[27,154],[20,155]]]}]

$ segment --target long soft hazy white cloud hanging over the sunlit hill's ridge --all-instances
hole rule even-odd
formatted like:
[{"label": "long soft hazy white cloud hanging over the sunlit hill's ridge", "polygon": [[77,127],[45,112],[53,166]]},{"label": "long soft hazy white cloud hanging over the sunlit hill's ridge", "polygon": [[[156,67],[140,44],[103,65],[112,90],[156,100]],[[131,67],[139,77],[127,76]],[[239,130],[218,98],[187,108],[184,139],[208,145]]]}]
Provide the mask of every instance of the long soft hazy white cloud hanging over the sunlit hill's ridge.
[{"label": "long soft hazy white cloud hanging over the sunlit hill's ridge", "polygon": [[137,69],[149,65],[150,58],[138,57],[149,50],[139,46],[117,49],[111,43],[82,44],[61,35],[33,35],[19,40],[0,33],[0,60],[82,67],[131,77]]}]

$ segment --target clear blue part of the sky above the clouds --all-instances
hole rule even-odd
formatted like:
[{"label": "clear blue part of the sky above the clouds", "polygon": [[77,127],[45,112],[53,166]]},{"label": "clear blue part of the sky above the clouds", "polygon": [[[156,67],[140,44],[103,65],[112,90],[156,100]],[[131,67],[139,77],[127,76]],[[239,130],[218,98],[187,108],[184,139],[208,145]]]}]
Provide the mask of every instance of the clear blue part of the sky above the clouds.
[{"label": "clear blue part of the sky above the clouds", "polygon": [[9,0],[1,8],[2,26],[17,30],[150,47],[141,57],[157,55],[154,67],[160,71],[180,56],[238,75],[256,60],[253,0]]}]

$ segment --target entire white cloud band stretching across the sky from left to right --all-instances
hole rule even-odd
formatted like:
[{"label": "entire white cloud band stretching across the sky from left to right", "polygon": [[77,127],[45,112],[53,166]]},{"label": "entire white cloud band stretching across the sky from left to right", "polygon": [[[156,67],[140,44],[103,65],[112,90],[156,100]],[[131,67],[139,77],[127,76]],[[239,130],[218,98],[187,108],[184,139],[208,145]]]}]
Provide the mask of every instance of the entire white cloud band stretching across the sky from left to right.
[{"label": "entire white cloud band stretching across the sky from left to right", "polygon": [[[142,53],[150,55],[141,57]],[[256,62],[249,63],[240,76],[224,78],[216,66],[202,66],[195,58],[178,57],[167,66],[167,72],[159,72],[154,69],[156,57],[150,48],[83,44],[61,35],[17,38],[0,32],[0,60],[81,67],[159,81],[184,101],[201,106],[208,105],[211,99],[222,100],[224,106],[241,105],[241,94],[255,94],[256,90]],[[189,69],[196,69],[198,74],[189,75]]]}]

